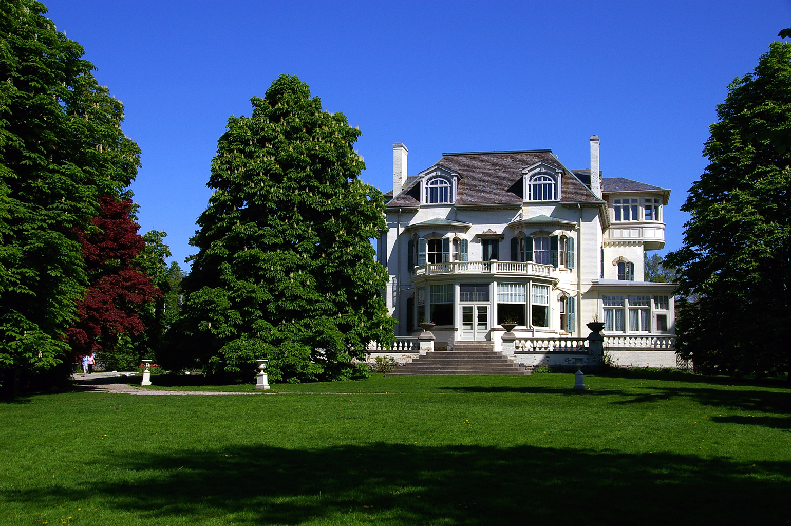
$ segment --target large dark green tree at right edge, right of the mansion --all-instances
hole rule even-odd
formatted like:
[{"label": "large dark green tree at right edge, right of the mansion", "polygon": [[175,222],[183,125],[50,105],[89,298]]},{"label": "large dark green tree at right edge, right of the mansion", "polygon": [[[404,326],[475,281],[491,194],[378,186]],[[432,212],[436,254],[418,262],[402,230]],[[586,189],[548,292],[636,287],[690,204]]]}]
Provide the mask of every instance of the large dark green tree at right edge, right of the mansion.
[{"label": "large dark green tree at right edge, right of the mansion", "polygon": [[[710,165],[681,210],[683,248],[667,256],[683,296],[679,353],[703,373],[789,367],[791,44],[773,43],[717,106]],[[686,305],[685,305],[686,302]]]}]

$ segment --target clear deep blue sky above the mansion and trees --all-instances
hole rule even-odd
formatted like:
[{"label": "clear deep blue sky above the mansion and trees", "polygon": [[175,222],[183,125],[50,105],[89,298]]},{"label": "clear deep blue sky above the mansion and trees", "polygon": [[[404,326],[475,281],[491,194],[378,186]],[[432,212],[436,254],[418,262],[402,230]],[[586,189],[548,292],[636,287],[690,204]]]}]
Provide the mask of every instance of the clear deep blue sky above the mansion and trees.
[{"label": "clear deep blue sky above the mansion and trees", "polygon": [[494,149],[587,168],[598,134],[605,177],[672,188],[664,254],[681,244],[716,104],[791,26],[778,0],[46,3],[123,101],[142,232],[165,230],[180,263],[226,120],[281,73],[360,127],[363,179],[382,191],[393,142],[414,175],[443,152]]}]

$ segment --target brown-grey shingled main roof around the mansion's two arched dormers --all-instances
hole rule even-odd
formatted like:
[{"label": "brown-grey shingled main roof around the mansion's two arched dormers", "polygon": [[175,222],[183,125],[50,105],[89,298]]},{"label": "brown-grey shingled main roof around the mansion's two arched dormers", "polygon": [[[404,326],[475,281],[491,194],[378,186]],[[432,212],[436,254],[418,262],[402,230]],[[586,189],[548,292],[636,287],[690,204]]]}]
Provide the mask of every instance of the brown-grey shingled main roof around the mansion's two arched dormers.
[{"label": "brown-grey shingled main roof around the mansion's two arched dormers", "polygon": [[[522,170],[538,162],[562,169],[560,202],[602,202],[554,157],[551,149],[443,153],[435,164],[461,176],[456,187],[456,206],[485,206],[521,204]],[[418,177],[408,178],[403,191],[388,202],[388,208],[420,206],[418,183]]]}]

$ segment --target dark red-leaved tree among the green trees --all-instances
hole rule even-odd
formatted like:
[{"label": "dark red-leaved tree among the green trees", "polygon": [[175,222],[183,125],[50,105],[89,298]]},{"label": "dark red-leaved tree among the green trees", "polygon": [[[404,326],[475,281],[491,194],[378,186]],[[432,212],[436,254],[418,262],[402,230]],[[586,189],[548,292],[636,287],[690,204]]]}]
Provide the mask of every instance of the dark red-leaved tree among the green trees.
[{"label": "dark red-leaved tree among the green trees", "polygon": [[119,336],[145,331],[140,310],[161,297],[149,276],[134,264],[145,241],[138,234],[140,225],[132,221],[131,200],[103,195],[100,205],[99,217],[91,220],[98,230],[78,234],[89,287],[78,303],[79,322],[67,331],[77,356],[112,350]]}]

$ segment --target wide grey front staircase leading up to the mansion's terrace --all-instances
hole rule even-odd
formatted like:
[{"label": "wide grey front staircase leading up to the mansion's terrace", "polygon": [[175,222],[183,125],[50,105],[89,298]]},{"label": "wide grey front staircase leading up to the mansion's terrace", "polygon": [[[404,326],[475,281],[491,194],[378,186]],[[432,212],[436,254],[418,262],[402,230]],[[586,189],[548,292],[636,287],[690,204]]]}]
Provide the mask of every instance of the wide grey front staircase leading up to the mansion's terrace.
[{"label": "wide grey front staircase leading up to the mansion's terrace", "polygon": [[532,371],[520,367],[501,353],[494,352],[492,342],[455,342],[452,350],[431,350],[411,362],[400,365],[388,377],[422,374],[500,374],[525,375]]}]

